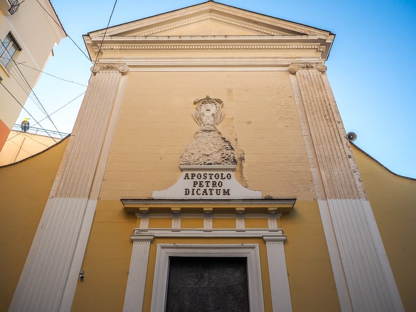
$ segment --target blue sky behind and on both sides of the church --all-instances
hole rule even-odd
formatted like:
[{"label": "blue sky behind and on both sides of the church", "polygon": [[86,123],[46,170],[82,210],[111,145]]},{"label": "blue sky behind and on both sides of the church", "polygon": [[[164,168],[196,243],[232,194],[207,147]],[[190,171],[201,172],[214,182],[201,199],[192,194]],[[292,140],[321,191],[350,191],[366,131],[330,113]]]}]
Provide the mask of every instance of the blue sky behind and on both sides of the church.
[{"label": "blue sky behind and on both sides of the church", "polygon": [[[113,0],[51,2],[66,32],[85,53],[82,35],[105,28],[114,5]],[[117,0],[110,26],[201,2]],[[393,172],[416,177],[416,1],[220,2],[335,33],[326,66],[346,132],[355,132],[354,143]],[[53,50],[44,71],[87,85],[91,62],[71,40],[63,39]],[[49,114],[85,90],[44,74],[34,89]],[[51,115],[59,131],[72,131],[81,101],[82,96]],[[25,108],[36,120],[45,117],[31,100]],[[24,117],[27,113],[22,111],[18,123]],[[54,130],[47,120],[41,124]]]}]

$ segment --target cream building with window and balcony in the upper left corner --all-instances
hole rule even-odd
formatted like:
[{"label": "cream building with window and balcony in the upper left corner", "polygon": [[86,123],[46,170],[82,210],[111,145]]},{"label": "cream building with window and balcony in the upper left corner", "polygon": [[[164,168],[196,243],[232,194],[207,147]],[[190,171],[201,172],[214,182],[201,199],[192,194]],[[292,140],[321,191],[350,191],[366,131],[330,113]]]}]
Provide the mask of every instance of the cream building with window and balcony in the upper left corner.
[{"label": "cream building with window and balcony in the upper left corner", "polygon": [[0,150],[52,56],[52,47],[65,37],[48,0],[0,1]]}]

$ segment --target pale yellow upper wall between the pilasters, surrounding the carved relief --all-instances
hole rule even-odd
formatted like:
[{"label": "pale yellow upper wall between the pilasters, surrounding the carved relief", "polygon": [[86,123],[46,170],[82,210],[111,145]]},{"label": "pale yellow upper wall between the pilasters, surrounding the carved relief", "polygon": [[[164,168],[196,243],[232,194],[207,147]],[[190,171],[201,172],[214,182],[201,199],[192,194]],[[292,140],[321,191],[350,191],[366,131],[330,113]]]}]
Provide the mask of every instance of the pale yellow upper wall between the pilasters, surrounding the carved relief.
[{"label": "pale yellow upper wall between the pilasters, surrounding the carved relief", "polygon": [[175,183],[199,129],[193,101],[208,94],[224,101],[218,129],[235,149],[237,180],[263,196],[315,200],[287,71],[128,75],[101,199],[148,198]]}]

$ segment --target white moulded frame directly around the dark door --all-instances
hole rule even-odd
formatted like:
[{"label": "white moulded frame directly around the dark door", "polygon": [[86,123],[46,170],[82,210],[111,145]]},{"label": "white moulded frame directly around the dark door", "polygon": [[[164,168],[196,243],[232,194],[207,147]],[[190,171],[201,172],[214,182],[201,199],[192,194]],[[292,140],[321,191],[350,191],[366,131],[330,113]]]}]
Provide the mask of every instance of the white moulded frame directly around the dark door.
[{"label": "white moulded frame directly around the dark door", "polygon": [[158,244],[153,280],[151,312],[163,312],[166,305],[169,257],[247,258],[250,310],[264,312],[258,244]]}]

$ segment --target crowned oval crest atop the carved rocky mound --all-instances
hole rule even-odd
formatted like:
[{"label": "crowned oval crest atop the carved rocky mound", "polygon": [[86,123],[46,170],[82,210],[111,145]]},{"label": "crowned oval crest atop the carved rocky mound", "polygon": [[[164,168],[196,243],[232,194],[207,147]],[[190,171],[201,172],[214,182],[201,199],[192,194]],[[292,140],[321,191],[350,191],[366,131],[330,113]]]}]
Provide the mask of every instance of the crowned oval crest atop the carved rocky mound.
[{"label": "crowned oval crest atop the carved rocky mound", "polygon": [[207,95],[203,99],[195,100],[194,105],[197,105],[197,107],[192,115],[201,126],[200,130],[218,131],[217,124],[224,118],[223,102],[220,99],[212,99]]}]

